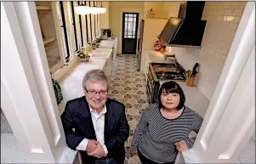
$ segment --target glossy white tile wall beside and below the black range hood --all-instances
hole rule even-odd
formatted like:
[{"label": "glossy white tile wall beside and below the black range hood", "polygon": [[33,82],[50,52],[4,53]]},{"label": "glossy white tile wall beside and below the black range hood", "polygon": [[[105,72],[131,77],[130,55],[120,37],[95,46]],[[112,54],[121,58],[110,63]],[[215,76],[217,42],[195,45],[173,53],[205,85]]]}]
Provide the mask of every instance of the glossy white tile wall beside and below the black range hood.
[{"label": "glossy white tile wall beside and below the black range hood", "polygon": [[210,100],[225,65],[247,2],[206,2],[202,20],[207,25],[202,48],[170,48],[185,69],[200,64],[196,86]]}]

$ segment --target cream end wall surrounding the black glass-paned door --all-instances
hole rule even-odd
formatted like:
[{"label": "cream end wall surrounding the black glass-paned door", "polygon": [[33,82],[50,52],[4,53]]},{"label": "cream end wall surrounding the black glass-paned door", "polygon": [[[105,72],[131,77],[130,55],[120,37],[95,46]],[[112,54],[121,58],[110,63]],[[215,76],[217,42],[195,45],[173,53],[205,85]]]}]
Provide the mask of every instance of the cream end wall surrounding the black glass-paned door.
[{"label": "cream end wall surrounding the black glass-paned door", "polygon": [[143,11],[144,2],[111,2],[111,33],[118,38],[117,54],[122,53],[122,12],[139,13],[141,20]]}]

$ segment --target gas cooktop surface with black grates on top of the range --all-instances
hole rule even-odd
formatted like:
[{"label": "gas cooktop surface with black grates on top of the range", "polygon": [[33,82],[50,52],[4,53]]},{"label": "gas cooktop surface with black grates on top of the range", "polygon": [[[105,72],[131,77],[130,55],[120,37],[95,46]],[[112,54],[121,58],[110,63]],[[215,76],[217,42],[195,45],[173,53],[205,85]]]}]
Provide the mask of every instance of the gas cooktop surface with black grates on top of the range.
[{"label": "gas cooktop surface with black grates on top of the range", "polygon": [[176,63],[151,63],[151,74],[154,80],[185,81],[185,69]]}]

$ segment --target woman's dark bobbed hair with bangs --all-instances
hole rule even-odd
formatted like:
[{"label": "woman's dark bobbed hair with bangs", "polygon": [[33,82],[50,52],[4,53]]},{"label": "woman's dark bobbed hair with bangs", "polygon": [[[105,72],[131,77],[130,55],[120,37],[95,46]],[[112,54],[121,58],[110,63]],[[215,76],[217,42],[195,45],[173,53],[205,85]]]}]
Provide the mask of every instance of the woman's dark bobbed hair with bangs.
[{"label": "woman's dark bobbed hair with bangs", "polygon": [[166,93],[178,93],[179,97],[180,97],[180,101],[179,101],[179,105],[177,106],[177,110],[181,110],[183,108],[184,103],[185,103],[185,94],[177,82],[170,81],[170,82],[164,82],[162,84],[162,86],[158,92],[159,108],[163,107],[162,102],[161,102],[161,95],[162,95],[163,91],[165,91]]}]

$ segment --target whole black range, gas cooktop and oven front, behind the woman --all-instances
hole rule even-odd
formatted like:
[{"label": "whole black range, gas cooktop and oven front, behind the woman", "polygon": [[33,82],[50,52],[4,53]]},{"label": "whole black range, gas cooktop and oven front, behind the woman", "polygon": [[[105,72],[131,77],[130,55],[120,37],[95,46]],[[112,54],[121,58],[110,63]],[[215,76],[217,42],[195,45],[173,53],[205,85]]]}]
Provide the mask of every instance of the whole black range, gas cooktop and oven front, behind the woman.
[{"label": "whole black range, gas cooktop and oven front, behind the woman", "polygon": [[185,82],[185,69],[179,63],[149,63],[146,80],[146,92],[149,103],[156,103],[160,81]]}]

